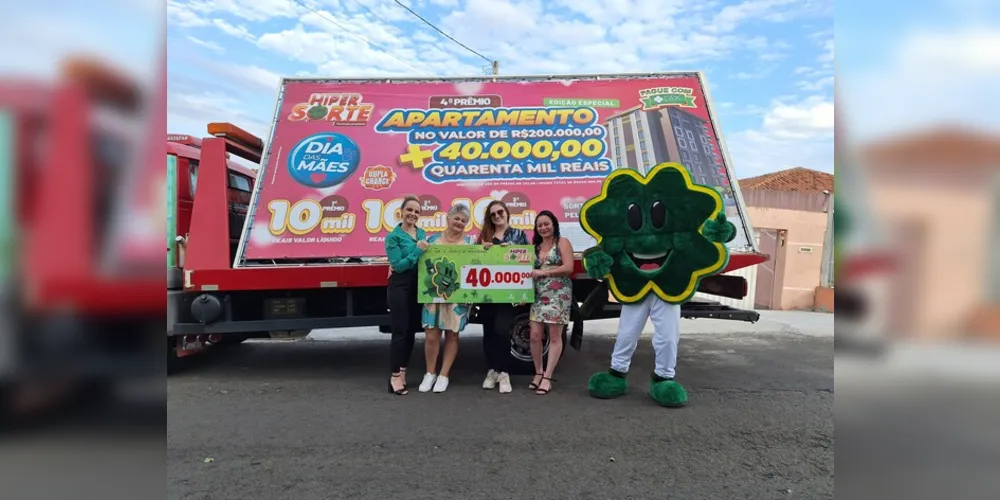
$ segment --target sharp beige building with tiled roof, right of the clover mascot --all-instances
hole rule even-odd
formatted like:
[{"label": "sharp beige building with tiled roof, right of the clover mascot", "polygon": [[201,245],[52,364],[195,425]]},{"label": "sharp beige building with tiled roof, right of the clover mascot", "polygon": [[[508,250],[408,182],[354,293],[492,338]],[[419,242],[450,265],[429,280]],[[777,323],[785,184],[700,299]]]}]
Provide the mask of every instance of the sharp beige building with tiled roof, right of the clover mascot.
[{"label": "sharp beige building with tiled roof, right of the clover mascot", "polygon": [[796,167],[739,183],[758,248],[771,257],[755,266],[754,308],[833,311],[822,283],[833,175]]}]

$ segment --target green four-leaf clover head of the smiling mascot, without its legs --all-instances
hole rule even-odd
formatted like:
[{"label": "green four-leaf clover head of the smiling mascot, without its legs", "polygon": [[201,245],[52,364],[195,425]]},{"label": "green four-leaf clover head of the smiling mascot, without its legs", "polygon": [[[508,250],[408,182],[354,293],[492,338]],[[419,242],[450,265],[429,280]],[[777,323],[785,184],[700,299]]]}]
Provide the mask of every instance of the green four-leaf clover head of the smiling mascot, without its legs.
[{"label": "green four-leaf clover head of the smiling mascot, without its legs", "polygon": [[677,163],[661,163],[645,177],[616,170],[584,204],[580,221],[598,245],[584,254],[588,273],[605,278],[622,303],[650,292],[670,303],[690,300],[702,278],[726,267],[725,242],[736,235],[718,191],[692,183]]}]

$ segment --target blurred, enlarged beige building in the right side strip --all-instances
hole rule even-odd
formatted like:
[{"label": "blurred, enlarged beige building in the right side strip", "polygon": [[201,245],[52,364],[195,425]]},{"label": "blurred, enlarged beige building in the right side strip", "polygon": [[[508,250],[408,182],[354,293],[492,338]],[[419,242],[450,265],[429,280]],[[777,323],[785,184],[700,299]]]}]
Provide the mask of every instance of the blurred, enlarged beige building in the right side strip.
[{"label": "blurred, enlarged beige building in the right side strip", "polygon": [[860,159],[895,260],[891,329],[1000,337],[1000,137],[932,130]]}]

